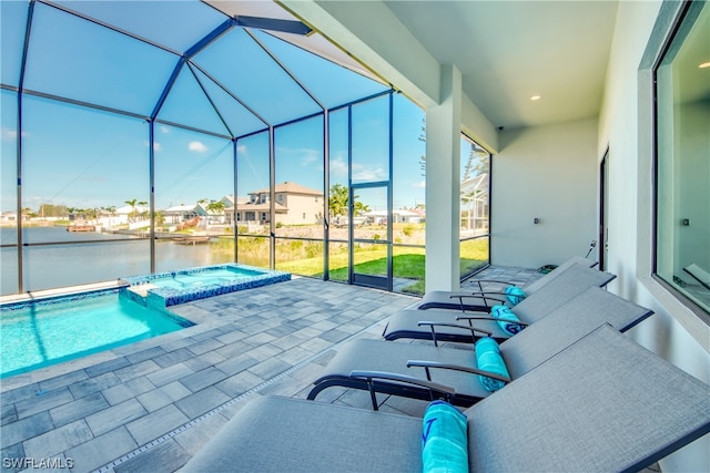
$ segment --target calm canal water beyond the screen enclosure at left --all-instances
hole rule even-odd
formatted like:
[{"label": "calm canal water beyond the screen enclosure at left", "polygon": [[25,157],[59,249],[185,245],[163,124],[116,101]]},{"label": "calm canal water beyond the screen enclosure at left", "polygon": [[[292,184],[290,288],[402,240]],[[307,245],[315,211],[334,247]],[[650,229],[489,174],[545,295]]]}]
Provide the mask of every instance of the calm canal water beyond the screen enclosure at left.
[{"label": "calm canal water beyond the screen enclosure at left", "polygon": [[[8,245],[17,243],[17,228],[0,228],[0,294],[16,294],[19,287],[18,248]],[[26,291],[111,281],[151,273],[148,239],[95,232],[73,233],[58,226],[23,228],[22,243],[26,245],[22,248]],[[233,256],[213,251],[211,246],[156,240],[155,270],[160,273],[233,260]]]}]

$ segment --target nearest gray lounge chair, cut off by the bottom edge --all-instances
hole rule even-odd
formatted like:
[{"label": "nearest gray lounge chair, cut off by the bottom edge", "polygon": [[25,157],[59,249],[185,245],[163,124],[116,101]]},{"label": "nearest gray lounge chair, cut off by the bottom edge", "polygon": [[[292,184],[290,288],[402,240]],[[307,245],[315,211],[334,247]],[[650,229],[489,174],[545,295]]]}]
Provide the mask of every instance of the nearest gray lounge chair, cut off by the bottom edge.
[{"label": "nearest gray lounge chair, cut off by the bottom edge", "polygon": [[[463,452],[470,472],[640,471],[710,432],[708,399],[710,387],[602,327],[464,411]],[[416,472],[422,435],[417,418],[260,398],[183,472]]]}]

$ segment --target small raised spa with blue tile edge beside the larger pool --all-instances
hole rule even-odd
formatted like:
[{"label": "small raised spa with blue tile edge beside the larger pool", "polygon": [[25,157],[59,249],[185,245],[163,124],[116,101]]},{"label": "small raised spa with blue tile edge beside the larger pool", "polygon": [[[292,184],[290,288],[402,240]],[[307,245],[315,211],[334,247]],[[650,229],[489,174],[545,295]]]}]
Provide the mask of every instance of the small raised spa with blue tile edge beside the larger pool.
[{"label": "small raised spa with blue tile edge beside the larger pool", "polygon": [[124,296],[146,307],[170,307],[291,280],[290,273],[226,264],[122,278]]}]

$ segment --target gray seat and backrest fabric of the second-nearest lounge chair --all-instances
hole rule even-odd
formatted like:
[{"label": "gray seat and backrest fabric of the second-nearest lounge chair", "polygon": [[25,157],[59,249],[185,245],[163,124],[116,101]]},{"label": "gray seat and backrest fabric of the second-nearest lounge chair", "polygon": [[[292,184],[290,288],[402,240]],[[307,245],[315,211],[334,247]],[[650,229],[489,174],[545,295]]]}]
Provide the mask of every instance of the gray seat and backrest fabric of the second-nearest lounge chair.
[{"label": "gray seat and backrest fabric of the second-nearest lounge chair", "polygon": [[[539,322],[505,340],[499,346],[500,353],[510,378],[515,380],[604,323],[609,323],[617,330],[627,330],[651,313],[653,312],[645,307],[601,288],[591,287]],[[329,385],[345,385],[341,381],[348,380],[349,373],[357,370],[426,378],[423,368],[407,368],[408,360],[475,366],[474,356],[465,349],[383,340],[354,340],[345,343],[323,369],[322,374],[314,382],[314,395]],[[432,370],[433,381],[456,390],[454,401],[458,405],[470,405],[490,395],[490,392],[474,382],[474,379],[475,374],[443,369]],[[327,384],[321,385],[321,383]],[[392,392],[398,395],[412,395],[410,392],[394,388],[396,385],[393,387]],[[425,394],[427,393],[424,392],[422,397],[428,399]]]}]

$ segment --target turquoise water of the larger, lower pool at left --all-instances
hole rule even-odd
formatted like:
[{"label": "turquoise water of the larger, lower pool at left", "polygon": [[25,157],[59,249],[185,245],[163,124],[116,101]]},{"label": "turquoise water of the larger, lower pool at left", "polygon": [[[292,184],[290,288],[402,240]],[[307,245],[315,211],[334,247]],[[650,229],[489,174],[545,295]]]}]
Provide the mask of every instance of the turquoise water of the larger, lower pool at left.
[{"label": "turquoise water of the larger, lower pool at left", "polygon": [[119,297],[115,289],[0,306],[0,378],[192,325]]}]

